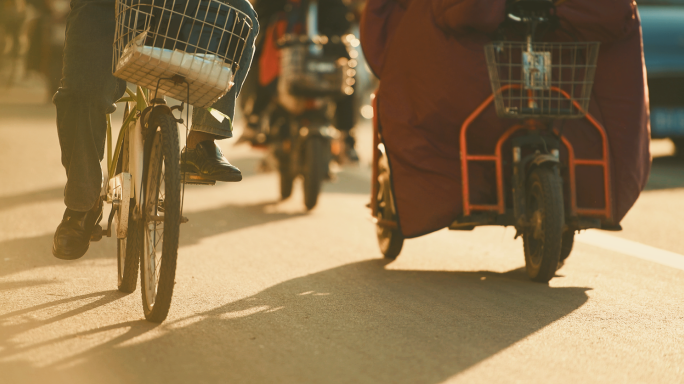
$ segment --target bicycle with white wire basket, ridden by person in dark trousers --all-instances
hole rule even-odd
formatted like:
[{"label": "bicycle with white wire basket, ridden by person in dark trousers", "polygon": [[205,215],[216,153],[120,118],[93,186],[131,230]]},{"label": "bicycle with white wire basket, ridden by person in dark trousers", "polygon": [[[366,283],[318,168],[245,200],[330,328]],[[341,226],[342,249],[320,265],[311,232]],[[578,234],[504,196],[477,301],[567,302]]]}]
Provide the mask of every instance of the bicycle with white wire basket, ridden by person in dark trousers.
[{"label": "bicycle with white wire basket, ridden by person in dark trousers", "polygon": [[[107,228],[93,240],[116,236],[118,289],[135,291],[140,267],[145,318],[162,322],[173,296],[180,225],[188,221],[184,185],[215,184],[181,172],[178,124],[186,137],[188,127],[173,113],[182,116],[185,104],[208,108],[232,87],[252,24],[247,14],[216,0],[118,0],[116,26],[114,75],[137,88],[118,101],[126,105],[113,153],[107,118],[101,201],[112,209]],[[183,102],[169,107],[162,95]]]}]

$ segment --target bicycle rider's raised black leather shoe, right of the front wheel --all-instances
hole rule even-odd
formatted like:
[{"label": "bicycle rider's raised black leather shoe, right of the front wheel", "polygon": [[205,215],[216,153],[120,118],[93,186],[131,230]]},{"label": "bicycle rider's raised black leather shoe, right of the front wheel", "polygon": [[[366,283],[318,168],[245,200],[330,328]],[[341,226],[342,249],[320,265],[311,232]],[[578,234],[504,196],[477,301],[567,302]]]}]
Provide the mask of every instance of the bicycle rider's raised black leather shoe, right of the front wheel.
[{"label": "bicycle rider's raised black leather shoe, right of the front wheel", "polygon": [[213,140],[197,144],[195,149],[185,149],[181,156],[184,172],[197,173],[205,179],[216,181],[240,181],[242,172],[230,164]]}]

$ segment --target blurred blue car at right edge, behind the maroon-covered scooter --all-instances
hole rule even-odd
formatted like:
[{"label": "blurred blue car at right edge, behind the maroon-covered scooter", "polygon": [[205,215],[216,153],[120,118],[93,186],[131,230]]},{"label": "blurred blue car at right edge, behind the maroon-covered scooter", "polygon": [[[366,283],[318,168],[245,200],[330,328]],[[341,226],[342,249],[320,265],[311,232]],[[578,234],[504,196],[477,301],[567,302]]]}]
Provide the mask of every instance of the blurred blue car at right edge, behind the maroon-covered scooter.
[{"label": "blurred blue car at right edge, behind the maroon-covered scooter", "polygon": [[651,136],[684,157],[684,0],[637,0],[651,99]]}]

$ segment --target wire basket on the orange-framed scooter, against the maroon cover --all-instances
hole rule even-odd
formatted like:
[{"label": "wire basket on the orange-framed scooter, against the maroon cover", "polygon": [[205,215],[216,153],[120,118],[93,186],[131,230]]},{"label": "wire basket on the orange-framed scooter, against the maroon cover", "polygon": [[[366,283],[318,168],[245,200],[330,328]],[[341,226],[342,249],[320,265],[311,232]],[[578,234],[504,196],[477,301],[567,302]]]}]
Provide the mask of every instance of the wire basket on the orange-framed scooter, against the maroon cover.
[{"label": "wire basket on the orange-framed scooter, against the maroon cover", "polygon": [[600,43],[493,42],[485,46],[500,117],[580,118],[589,108]]}]

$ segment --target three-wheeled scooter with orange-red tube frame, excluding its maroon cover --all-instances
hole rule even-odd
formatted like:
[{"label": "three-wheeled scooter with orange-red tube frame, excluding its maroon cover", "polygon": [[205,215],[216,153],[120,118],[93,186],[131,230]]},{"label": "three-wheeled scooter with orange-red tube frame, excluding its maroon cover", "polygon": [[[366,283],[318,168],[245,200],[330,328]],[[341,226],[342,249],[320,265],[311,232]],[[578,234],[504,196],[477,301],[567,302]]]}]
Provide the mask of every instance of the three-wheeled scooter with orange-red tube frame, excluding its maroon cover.
[{"label": "three-wheeled scooter with orange-red tube frame, excluding its maroon cover", "polygon": [[[587,111],[598,60],[598,42],[537,42],[537,27],[550,21],[554,5],[549,0],[511,2],[507,18],[526,28],[525,41],[494,41],[485,45],[485,57],[493,94],[466,118],[460,130],[461,187],[463,214],[452,230],[472,230],[477,226],[514,226],[522,236],[525,265],[533,281],[551,280],[570,255],[575,232],[602,228],[612,222],[613,206],[608,137],[603,126]],[[395,259],[404,237],[397,222],[388,157],[382,144],[377,116],[374,118],[373,185],[370,208],[380,250]],[[494,154],[468,152],[468,128],[483,111],[494,104],[502,118],[520,119],[506,130]],[[599,159],[575,156],[562,125],[554,121],[586,118],[601,137]],[[510,200],[504,179],[504,145],[512,148]],[[561,158],[564,146],[567,160]],[[496,204],[471,202],[469,165],[493,162],[496,169]],[[600,167],[603,172],[603,208],[579,207],[575,182],[578,166]],[[564,203],[562,172],[569,181],[569,204]],[[512,203],[512,204],[511,204]],[[512,206],[511,206],[512,205]],[[603,229],[611,229],[603,227]]]}]

